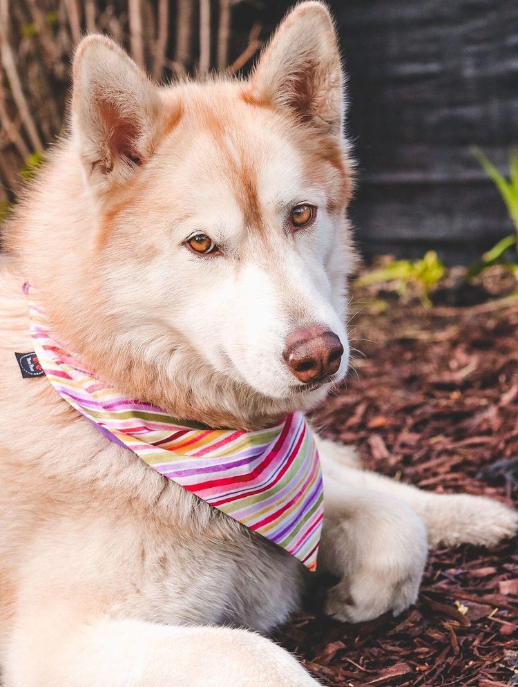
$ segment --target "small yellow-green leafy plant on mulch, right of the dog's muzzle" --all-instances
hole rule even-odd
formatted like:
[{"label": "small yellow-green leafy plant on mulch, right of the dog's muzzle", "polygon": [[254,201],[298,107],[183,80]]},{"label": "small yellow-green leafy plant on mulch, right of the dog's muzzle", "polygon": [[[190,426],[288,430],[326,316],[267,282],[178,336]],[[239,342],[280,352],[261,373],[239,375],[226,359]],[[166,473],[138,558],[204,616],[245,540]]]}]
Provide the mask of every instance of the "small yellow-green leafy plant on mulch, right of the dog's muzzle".
[{"label": "small yellow-green leafy plant on mulch, right of the dog's muzzle", "polygon": [[421,303],[430,306],[430,294],[444,276],[445,267],[437,253],[429,250],[421,260],[395,260],[376,270],[371,270],[359,277],[356,283],[367,286],[379,283],[394,283],[399,294],[403,295],[410,284],[419,290]]}]

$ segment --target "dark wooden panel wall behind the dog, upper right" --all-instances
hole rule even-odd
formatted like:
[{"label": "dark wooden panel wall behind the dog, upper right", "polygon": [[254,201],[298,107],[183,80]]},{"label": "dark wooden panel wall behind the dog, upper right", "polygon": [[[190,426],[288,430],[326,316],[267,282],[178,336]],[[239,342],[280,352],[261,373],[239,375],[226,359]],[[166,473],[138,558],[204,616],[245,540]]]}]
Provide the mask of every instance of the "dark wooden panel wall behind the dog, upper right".
[{"label": "dark wooden panel wall behind the dog, upper right", "polygon": [[[267,23],[288,4],[267,1]],[[518,1],[329,4],[349,73],[364,252],[433,246],[471,259],[512,228],[470,148],[504,168],[518,143]]]}]

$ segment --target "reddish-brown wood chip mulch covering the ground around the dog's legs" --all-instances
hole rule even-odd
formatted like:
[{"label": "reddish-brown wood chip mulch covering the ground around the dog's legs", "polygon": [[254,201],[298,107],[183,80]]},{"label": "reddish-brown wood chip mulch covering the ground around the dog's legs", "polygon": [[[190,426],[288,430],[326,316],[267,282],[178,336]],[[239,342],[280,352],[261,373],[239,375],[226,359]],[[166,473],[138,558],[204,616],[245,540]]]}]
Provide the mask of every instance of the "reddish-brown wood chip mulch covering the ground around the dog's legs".
[{"label": "reddish-brown wood chip mulch covering the ground around the dog's legs", "polygon": [[[358,310],[362,303],[354,303]],[[518,496],[518,299],[470,308],[365,301],[356,373],[316,413],[365,467],[434,491]],[[363,357],[365,356],[365,357]],[[516,503],[516,501],[515,501]],[[347,625],[319,599],[276,640],[329,687],[518,686],[518,547],[430,555],[416,605]]]}]

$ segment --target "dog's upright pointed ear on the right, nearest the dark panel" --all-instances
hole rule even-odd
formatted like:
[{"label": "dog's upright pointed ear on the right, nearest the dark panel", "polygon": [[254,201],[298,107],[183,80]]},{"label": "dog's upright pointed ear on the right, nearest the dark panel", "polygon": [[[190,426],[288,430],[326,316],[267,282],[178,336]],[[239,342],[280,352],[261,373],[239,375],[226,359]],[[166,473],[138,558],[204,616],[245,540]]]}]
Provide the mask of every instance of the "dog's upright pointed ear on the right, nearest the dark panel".
[{"label": "dog's upright pointed ear on the right, nearest the dark panel", "polygon": [[343,74],[325,4],[303,2],[282,21],[251,76],[252,97],[289,109],[325,133],[342,133]]}]

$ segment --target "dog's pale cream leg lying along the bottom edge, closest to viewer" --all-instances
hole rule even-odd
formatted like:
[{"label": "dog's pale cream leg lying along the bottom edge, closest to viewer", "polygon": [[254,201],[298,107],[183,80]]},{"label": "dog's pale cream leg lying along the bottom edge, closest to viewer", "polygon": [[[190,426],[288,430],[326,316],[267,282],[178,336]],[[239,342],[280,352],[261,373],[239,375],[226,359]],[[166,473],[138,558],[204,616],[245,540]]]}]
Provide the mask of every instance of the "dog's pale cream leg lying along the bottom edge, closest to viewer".
[{"label": "dog's pale cream leg lying along the bottom edge, closest to viewer", "polygon": [[317,687],[273,642],[247,630],[31,614],[15,633],[5,687]]}]

